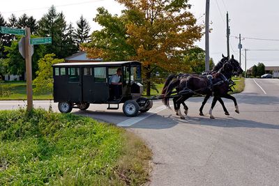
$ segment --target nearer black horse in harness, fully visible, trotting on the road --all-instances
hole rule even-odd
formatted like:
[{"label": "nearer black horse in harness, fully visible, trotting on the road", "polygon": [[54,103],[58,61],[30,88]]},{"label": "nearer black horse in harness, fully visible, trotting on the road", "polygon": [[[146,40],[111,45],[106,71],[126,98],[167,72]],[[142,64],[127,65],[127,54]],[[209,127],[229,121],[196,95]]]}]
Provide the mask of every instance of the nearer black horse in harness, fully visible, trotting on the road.
[{"label": "nearer black horse in harness, fully visible, trotting on the road", "polygon": [[[167,88],[163,92],[163,102],[167,107],[169,107],[169,95],[172,94],[172,89],[176,88],[176,91],[178,93],[181,93],[181,96],[176,96],[173,99],[174,109],[176,113],[181,116],[181,118],[184,118],[180,111],[180,104],[183,104],[184,101],[195,94],[212,95],[212,92],[214,92],[214,99],[211,104],[211,110],[209,111],[211,118],[214,118],[212,116],[212,109],[215,106],[216,101],[220,100],[220,98],[232,99],[236,107],[236,112],[239,113],[239,108],[237,106],[235,98],[232,95],[227,94],[227,92],[229,91],[228,79],[232,77],[233,72],[237,72],[238,74],[243,72],[243,70],[239,66],[239,62],[234,59],[234,56],[232,56],[232,59],[229,59],[229,61],[227,61],[223,65],[223,67],[220,68],[220,70],[218,70],[215,75],[213,75],[212,83],[205,76],[197,77],[189,75],[186,77],[181,77],[180,79],[173,79],[169,82],[168,85],[165,84],[165,86],[167,85]],[[186,109],[185,112],[187,114],[188,107],[186,106],[184,107],[184,109]]]}]

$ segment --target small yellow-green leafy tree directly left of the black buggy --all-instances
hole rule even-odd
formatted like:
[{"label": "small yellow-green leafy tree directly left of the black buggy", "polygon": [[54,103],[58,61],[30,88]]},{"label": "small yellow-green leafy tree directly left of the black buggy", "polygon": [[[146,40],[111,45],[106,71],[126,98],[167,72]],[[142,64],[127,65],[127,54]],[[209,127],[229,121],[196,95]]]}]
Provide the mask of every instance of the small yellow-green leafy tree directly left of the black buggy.
[{"label": "small yellow-green leafy tree directly left of the black buggy", "polygon": [[53,92],[53,74],[52,65],[64,62],[63,59],[56,59],[55,54],[46,54],[38,61],[38,71],[36,72],[36,79],[33,84],[34,93],[44,93],[45,91],[52,90]]}]

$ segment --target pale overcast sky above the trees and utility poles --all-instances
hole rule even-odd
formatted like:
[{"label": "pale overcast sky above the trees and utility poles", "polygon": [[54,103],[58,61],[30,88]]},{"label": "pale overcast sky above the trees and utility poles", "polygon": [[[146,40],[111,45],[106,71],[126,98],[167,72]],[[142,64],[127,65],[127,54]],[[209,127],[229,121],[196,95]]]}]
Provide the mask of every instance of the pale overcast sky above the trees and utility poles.
[{"label": "pale overcast sky above the trees and utility poles", "polygon": [[[189,0],[190,11],[197,18],[198,24],[205,20],[206,0]],[[101,27],[93,22],[97,8],[105,7],[110,13],[121,14],[125,7],[113,0],[1,0],[0,13],[8,19],[13,13],[20,17],[23,13],[33,15],[36,20],[47,13],[50,6],[56,6],[58,12],[63,12],[67,22],[75,22],[83,15],[91,25],[91,30]],[[218,63],[222,54],[227,55],[226,13],[229,13],[230,54],[239,61],[239,36],[241,33],[241,67],[245,69],[245,52],[247,51],[247,69],[257,63],[266,66],[279,65],[279,1],[278,0],[210,0],[209,17],[211,33],[209,34],[209,55],[214,63]],[[264,39],[264,40],[262,40]],[[204,49],[204,37],[195,45]]]}]

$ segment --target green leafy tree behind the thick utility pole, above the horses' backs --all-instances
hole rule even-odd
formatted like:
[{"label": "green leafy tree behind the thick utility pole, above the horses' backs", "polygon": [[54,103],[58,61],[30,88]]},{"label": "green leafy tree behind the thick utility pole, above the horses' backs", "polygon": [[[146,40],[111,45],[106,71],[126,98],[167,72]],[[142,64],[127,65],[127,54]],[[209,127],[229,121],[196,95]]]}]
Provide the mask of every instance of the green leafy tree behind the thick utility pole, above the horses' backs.
[{"label": "green leafy tree behind the thick utility pole, above the horses' backs", "polygon": [[[190,72],[201,74],[205,71],[205,51],[199,47],[193,47],[188,50],[184,57],[186,64],[190,66]],[[209,60],[209,68],[214,67],[213,59]]]}]

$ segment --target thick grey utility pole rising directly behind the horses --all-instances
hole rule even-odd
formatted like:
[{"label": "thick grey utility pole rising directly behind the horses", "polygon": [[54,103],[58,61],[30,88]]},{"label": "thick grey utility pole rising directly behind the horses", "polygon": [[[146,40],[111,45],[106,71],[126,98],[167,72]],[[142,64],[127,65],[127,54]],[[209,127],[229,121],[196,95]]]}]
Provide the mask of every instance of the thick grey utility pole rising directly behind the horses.
[{"label": "thick grey utility pole rising directly behind the horses", "polygon": [[205,8],[205,71],[209,72],[209,0]]}]

